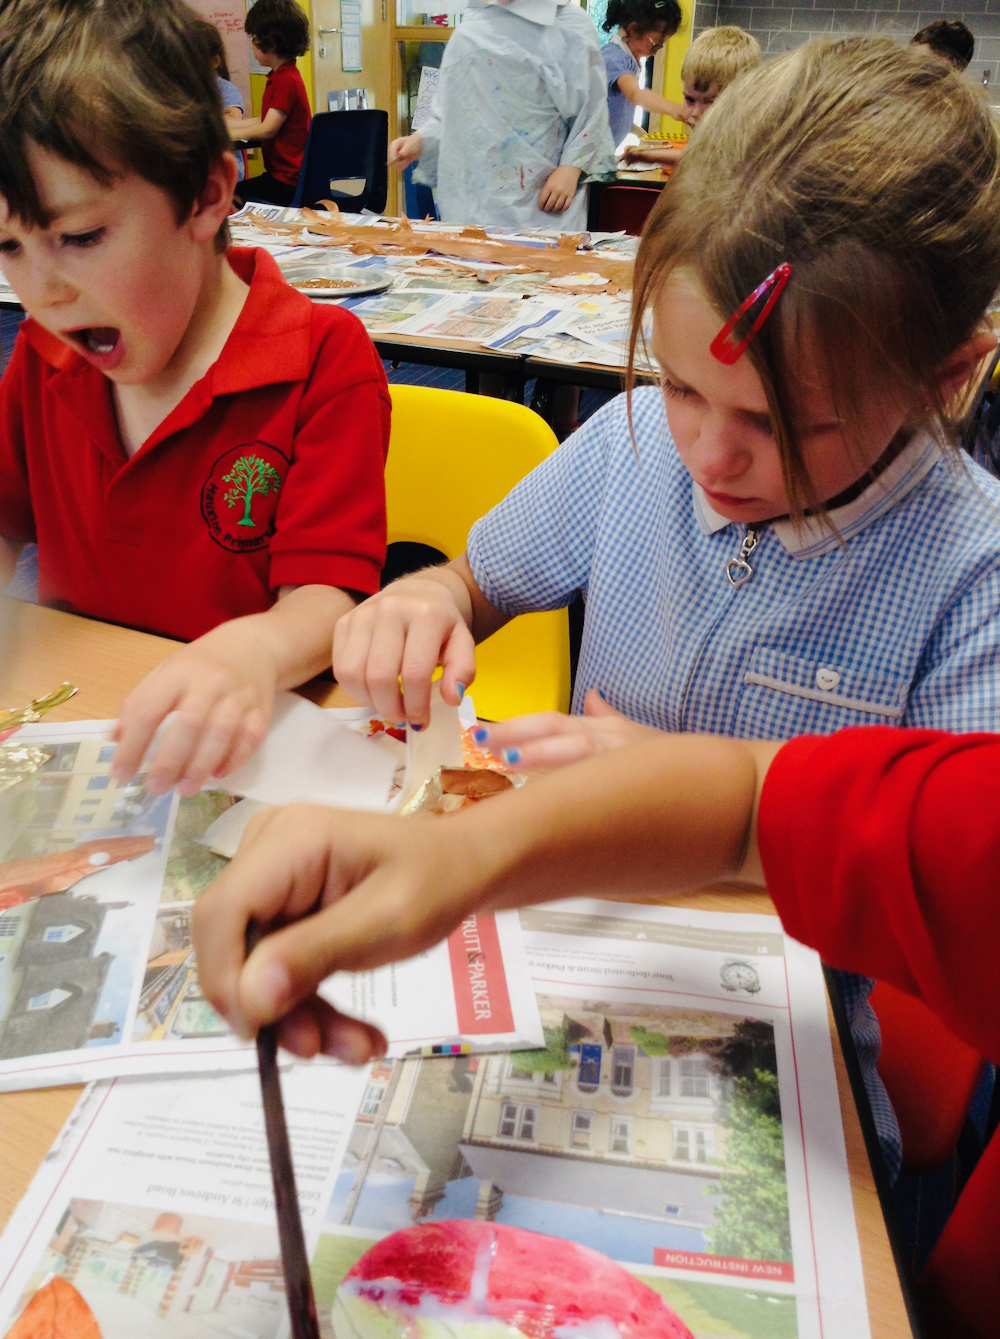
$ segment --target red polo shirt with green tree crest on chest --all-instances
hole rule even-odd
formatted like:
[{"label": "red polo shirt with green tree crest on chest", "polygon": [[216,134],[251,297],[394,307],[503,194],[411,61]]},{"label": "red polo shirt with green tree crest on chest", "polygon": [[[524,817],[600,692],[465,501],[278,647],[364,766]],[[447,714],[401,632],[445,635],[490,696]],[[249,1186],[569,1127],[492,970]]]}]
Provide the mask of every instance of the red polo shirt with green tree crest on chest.
[{"label": "red polo shirt with green tree crest on chest", "polygon": [[32,320],[0,382],[0,534],[39,599],[193,640],[278,586],[379,589],[390,398],[361,323],[264,250],[217,363],[129,459],[111,383]]}]

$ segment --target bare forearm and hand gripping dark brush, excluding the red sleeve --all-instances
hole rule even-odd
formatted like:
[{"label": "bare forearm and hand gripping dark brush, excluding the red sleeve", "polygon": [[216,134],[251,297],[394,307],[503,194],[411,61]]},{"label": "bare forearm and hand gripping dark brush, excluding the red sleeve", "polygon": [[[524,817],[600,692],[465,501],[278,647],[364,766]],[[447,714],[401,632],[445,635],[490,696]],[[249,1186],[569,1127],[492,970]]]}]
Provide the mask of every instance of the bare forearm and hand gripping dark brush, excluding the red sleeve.
[{"label": "bare forearm and hand gripping dark brush, excluding the red sleeve", "polygon": [[[315,994],[325,976],[410,957],[470,911],[581,893],[641,900],[740,872],[759,881],[750,822],[776,749],[665,736],[447,822],[272,810],[195,908],[202,990],[244,1035],[282,1019],[282,1044],[312,1055],[347,1027]],[[245,960],[252,917],[278,928]],[[359,1046],[357,1060],[367,1054]]]}]

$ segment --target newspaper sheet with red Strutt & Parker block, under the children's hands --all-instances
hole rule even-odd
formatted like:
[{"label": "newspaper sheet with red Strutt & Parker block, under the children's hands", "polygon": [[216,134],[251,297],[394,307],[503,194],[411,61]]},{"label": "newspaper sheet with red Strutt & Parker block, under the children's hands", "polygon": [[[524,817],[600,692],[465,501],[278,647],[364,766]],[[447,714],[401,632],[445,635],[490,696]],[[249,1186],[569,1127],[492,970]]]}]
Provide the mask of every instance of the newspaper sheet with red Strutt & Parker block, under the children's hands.
[{"label": "newspaper sheet with red Strutt & Parker block, under the children's hands", "polygon": [[[295,703],[285,724],[299,710],[331,715]],[[116,785],[111,724],[39,724],[17,735],[51,757],[0,794],[0,1091],[256,1063],[254,1048],[202,996],[191,947],[194,902],[225,868],[202,838],[236,797],[221,789],[155,797],[142,774]],[[384,809],[390,742],[348,742],[341,761],[355,806]],[[277,769],[278,782],[285,773]],[[270,799],[261,777],[254,761],[254,793]],[[343,787],[332,794],[349,798]],[[514,912],[482,916],[408,961],[339,973],[323,990],[382,1027],[392,1055],[444,1042],[542,1040]]]}]

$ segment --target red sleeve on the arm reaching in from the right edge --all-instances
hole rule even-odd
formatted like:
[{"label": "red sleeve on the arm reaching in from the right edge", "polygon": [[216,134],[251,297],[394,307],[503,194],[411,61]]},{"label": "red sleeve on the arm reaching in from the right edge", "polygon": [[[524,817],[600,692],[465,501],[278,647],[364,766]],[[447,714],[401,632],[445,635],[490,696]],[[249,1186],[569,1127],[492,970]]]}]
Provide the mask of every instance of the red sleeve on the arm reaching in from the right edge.
[{"label": "red sleeve on the arm reaching in from the right edge", "polygon": [[767,774],[759,842],[790,935],[1000,1059],[1000,735],[797,739]]}]

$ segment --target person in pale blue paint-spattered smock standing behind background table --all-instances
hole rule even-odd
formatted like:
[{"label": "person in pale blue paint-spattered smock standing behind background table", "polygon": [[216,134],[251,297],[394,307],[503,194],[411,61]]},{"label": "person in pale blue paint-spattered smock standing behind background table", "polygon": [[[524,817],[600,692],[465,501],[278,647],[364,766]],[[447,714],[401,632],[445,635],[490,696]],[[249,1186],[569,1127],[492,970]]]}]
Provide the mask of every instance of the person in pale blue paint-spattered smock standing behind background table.
[{"label": "person in pale blue paint-spattered smock standing behind background table", "polygon": [[566,0],[470,0],[444,48],[430,121],[394,139],[388,157],[400,170],[420,159],[444,222],[582,232],[580,178],[614,170],[586,11]]}]

